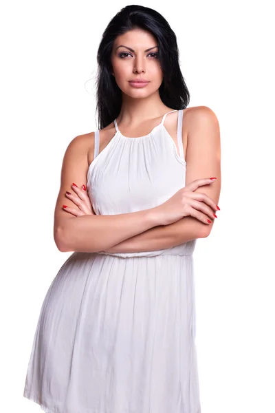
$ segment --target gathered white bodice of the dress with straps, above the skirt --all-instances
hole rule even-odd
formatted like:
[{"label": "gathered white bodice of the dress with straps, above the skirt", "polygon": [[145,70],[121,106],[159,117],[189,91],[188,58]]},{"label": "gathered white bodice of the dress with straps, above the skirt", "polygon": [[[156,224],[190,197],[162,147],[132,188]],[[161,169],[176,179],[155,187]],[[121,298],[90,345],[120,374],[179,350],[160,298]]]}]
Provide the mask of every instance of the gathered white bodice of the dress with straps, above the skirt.
[{"label": "gathered white bodice of the dress with straps, above the skirt", "polygon": [[[123,136],[115,121],[115,136],[100,153],[100,131],[96,131],[95,156],[87,174],[87,191],[96,214],[130,213],[157,207],[185,187],[182,114],[183,109],[178,111],[177,120],[179,154],[164,126],[167,114],[150,134],[137,138]],[[100,253],[119,257],[192,255],[195,242],[192,240],[158,251]]]}]

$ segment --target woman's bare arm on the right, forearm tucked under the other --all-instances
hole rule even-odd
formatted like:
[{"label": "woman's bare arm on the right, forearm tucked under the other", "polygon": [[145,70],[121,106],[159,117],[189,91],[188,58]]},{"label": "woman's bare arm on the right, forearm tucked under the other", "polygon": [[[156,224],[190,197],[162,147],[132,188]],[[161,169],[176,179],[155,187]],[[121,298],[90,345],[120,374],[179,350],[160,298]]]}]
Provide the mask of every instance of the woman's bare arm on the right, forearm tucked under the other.
[{"label": "woman's bare arm on the right, forearm tucked under the other", "polygon": [[[188,147],[186,150],[186,184],[198,178],[215,176],[217,181],[195,192],[206,193],[216,204],[221,191],[221,144],[217,116],[206,106],[194,107],[188,115]],[[107,252],[133,253],[157,251],[208,237],[214,223],[206,225],[193,217],[185,217],[170,225],[153,229],[113,245]]]}]

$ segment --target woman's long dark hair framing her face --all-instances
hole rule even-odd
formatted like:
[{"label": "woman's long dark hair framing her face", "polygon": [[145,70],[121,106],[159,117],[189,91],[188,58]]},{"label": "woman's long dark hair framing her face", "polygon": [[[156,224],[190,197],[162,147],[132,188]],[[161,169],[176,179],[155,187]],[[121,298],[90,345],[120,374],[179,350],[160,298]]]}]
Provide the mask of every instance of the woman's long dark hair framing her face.
[{"label": "woman's long dark hair framing her face", "polygon": [[109,125],[120,114],[122,92],[111,74],[113,42],[120,34],[140,28],[157,38],[159,63],[163,73],[159,96],[164,105],[173,109],[185,109],[190,100],[184,77],[179,67],[177,37],[168,21],[151,8],[131,5],[120,10],[107,25],[98,47],[96,75],[96,111],[98,129]]}]

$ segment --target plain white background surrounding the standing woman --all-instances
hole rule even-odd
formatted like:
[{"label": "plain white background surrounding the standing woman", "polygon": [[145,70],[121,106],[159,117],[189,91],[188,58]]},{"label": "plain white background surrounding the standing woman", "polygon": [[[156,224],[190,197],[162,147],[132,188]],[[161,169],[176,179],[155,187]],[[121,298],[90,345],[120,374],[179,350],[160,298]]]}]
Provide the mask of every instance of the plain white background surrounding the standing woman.
[{"label": "plain white background surrounding the standing woman", "polygon": [[[75,136],[97,129],[96,52],[127,4],[25,0],[1,8],[5,413],[41,411],[23,386],[43,299],[71,255],[53,238],[61,163]],[[275,412],[272,2],[140,4],[177,35],[189,107],[210,107],[221,129],[221,211],[194,253],[201,410]]]}]

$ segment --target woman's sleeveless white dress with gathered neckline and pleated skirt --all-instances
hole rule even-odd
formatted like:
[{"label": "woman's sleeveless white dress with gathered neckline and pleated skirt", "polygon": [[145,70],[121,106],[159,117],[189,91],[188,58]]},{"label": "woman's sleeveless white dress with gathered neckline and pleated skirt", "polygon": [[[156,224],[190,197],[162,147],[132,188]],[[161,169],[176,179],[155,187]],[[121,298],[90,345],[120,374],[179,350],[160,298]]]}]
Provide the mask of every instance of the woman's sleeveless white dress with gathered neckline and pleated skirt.
[{"label": "woman's sleeveless white dress with gathered neckline and pleated skirt", "polygon": [[[115,120],[115,136],[100,153],[96,131],[87,174],[96,214],[156,207],[185,186],[183,109],[179,154],[166,115],[137,138],[123,136]],[[201,413],[195,243],[72,253],[43,301],[23,396],[46,413]]]}]

